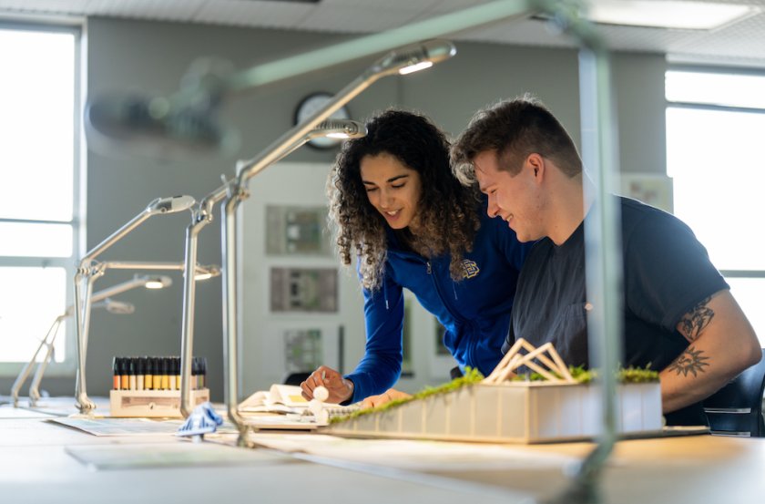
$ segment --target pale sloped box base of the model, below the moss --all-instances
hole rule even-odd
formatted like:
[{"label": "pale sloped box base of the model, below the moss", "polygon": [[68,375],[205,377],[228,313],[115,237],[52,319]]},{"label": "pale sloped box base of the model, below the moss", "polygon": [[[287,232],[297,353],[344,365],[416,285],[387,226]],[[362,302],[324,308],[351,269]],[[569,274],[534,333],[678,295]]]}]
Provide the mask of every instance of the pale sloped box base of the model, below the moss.
[{"label": "pale sloped box base of the model, below the moss", "polygon": [[[350,437],[410,437],[454,441],[545,443],[595,437],[602,427],[597,384],[505,382],[467,385],[321,430]],[[623,434],[660,431],[657,382],[617,386]]]}]

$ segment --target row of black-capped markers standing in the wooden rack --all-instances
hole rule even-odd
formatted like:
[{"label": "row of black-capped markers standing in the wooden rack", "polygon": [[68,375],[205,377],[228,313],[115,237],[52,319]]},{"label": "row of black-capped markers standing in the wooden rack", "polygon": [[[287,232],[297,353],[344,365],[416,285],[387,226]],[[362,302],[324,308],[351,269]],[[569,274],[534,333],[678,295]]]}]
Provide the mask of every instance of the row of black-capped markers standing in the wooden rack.
[{"label": "row of black-capped markers standing in the wooden rack", "polygon": [[[113,390],[180,390],[180,357],[114,357]],[[191,361],[192,389],[205,388],[207,358]]]}]

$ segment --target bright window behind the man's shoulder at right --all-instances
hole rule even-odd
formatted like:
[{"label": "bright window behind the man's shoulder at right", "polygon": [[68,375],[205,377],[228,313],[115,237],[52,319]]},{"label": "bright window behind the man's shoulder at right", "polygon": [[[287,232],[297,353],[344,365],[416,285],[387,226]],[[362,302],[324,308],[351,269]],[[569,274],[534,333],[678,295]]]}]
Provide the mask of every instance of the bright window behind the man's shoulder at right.
[{"label": "bright window behind the man's shoulder at right", "polygon": [[675,214],[726,277],[765,346],[765,72],[667,72]]}]

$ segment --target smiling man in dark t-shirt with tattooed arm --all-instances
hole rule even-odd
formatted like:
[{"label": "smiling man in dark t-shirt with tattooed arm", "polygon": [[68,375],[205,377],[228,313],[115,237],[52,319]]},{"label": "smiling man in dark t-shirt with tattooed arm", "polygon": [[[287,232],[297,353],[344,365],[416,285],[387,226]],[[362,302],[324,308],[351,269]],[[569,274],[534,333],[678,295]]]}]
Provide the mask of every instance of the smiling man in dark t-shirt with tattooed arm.
[{"label": "smiling man in dark t-shirt with tattooed arm", "polygon": [[[538,241],[518,279],[508,344],[552,342],[588,365],[582,162],[566,129],[534,98],[479,111],[452,149],[488,212]],[[674,216],[619,201],[624,266],[623,365],[660,371],[670,425],[705,423],[700,401],[759,362],[757,336],[696,237]],[[505,345],[505,350],[508,345]]]}]

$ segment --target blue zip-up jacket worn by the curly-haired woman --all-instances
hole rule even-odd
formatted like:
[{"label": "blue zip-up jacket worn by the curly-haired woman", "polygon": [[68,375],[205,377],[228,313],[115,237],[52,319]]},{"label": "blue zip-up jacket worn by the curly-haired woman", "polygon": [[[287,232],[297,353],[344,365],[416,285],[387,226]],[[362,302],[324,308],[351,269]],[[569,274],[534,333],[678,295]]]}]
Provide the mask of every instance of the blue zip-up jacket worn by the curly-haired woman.
[{"label": "blue zip-up jacket worn by the curly-haired woman", "polygon": [[353,382],[349,402],[382,394],[401,375],[403,288],[409,289],[446,329],[444,345],[464,371],[469,365],[488,375],[502,357],[510,327],[515,283],[533,242],[521,243],[502,219],[481,209],[473,252],[464,255],[465,277],[454,282],[450,256],[430,261],[404,251],[388,228],[388,252],[380,289],[364,294],[366,350],[346,378]]}]

